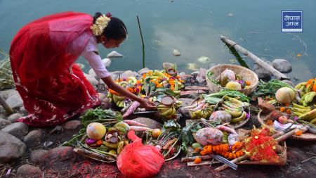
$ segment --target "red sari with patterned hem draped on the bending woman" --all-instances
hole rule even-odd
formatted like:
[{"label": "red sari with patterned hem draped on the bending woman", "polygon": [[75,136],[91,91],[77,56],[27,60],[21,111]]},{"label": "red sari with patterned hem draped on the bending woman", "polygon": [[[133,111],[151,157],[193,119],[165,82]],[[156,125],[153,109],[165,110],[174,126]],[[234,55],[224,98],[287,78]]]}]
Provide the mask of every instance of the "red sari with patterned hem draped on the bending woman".
[{"label": "red sari with patterned hem draped on the bending woman", "polygon": [[[15,86],[27,117],[18,121],[45,127],[100,104],[98,93],[74,62],[92,32],[85,13],[57,13],[25,25],[10,49]],[[79,39],[81,43],[76,43]]]}]

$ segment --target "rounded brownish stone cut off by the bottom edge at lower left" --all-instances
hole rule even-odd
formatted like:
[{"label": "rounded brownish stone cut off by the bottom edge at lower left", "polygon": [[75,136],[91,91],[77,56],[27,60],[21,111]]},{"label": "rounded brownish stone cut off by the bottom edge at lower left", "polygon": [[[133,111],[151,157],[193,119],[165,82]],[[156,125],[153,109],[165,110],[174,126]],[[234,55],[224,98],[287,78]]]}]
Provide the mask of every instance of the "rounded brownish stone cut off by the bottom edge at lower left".
[{"label": "rounded brownish stone cut off by the bottom edge at lower left", "polygon": [[43,177],[43,172],[39,167],[35,167],[32,165],[21,165],[17,172],[17,177],[34,177],[34,178],[40,178]]}]

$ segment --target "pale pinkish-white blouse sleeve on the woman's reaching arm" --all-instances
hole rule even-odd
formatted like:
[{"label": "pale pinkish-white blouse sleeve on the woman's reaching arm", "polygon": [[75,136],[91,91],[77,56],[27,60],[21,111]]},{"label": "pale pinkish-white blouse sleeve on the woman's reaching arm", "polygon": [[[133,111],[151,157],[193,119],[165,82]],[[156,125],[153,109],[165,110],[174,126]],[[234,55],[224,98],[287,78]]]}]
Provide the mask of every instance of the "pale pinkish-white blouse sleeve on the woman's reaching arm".
[{"label": "pale pinkish-white blouse sleeve on the woman's reaching arm", "polygon": [[100,55],[96,54],[93,51],[98,51],[98,44],[96,42],[96,37],[91,37],[86,44],[84,51],[81,53],[81,56],[86,58],[91,68],[93,68],[96,75],[100,78],[108,77],[111,75],[110,72],[105,68],[105,64],[102,62]]}]

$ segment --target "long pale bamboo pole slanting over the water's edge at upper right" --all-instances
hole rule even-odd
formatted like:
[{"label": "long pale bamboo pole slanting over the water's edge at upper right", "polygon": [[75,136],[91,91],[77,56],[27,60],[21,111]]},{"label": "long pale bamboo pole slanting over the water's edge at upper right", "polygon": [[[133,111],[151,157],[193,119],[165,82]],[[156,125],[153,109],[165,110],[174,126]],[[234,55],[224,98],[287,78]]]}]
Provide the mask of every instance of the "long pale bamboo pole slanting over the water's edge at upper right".
[{"label": "long pale bamboo pole slanting over the water's edge at upper right", "polygon": [[271,72],[272,75],[275,75],[275,77],[277,77],[277,79],[279,79],[279,80],[285,80],[285,79],[288,80],[289,79],[289,77],[287,77],[286,75],[284,75],[281,72],[277,71],[275,68],[273,68],[272,66],[268,65],[268,63],[265,63],[265,61],[263,61],[261,58],[259,58],[258,56],[254,55],[254,53],[251,53],[250,51],[244,49],[242,46],[240,46],[236,42],[234,42],[234,41],[232,41],[232,40],[230,40],[227,37],[224,37],[222,35],[220,35],[220,40],[222,40],[229,47],[233,46],[233,47],[235,47],[236,50],[244,53],[245,56],[251,58],[255,63],[260,65],[262,68],[265,68],[265,70],[268,70],[269,72]]}]

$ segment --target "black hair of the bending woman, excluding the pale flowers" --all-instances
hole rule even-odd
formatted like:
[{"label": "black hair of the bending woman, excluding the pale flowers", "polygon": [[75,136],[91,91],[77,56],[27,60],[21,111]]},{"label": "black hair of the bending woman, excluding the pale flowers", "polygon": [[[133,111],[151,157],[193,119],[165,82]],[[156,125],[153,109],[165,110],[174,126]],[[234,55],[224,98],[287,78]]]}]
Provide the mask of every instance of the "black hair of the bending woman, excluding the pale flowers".
[{"label": "black hair of the bending woman, excluding the pale flowers", "polygon": [[[103,15],[100,12],[97,12],[93,17],[93,23],[96,23],[96,19]],[[107,24],[107,27],[103,30],[103,35],[107,39],[125,39],[127,35],[127,29],[123,21],[119,18],[111,17],[110,22]]]}]

